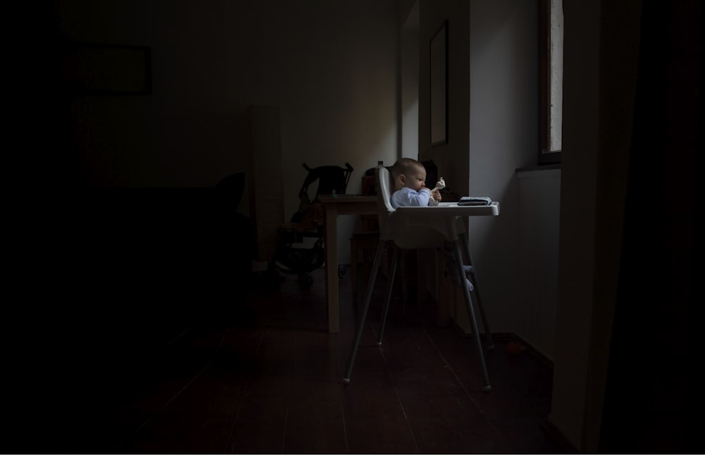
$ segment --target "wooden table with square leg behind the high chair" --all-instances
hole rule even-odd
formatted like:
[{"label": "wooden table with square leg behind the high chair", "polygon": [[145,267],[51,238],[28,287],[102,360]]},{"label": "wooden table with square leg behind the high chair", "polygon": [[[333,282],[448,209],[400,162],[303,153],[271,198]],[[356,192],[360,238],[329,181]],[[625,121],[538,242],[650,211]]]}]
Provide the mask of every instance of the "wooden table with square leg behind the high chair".
[{"label": "wooden table with square leg behind the high chair", "polygon": [[328,332],[341,331],[338,305],[338,215],[377,213],[376,196],[338,194],[319,196],[326,208],[326,299],[328,299]]}]

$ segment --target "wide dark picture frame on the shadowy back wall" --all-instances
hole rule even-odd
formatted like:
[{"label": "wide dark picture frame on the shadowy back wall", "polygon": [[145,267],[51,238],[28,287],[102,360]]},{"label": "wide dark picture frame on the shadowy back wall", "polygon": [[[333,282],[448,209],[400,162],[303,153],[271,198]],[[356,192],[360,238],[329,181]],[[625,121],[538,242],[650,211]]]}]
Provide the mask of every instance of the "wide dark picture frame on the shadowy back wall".
[{"label": "wide dark picture frame on the shadowy back wall", "polygon": [[72,94],[152,94],[152,52],[147,46],[66,44],[59,73]]}]

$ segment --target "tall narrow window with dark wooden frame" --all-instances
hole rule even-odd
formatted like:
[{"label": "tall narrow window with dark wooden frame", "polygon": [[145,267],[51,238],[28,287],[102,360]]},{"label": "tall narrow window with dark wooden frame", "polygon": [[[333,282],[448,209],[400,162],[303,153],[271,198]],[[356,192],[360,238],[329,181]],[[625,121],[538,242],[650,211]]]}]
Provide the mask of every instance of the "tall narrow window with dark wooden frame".
[{"label": "tall narrow window with dark wooden frame", "polygon": [[540,0],[539,164],[560,163],[563,139],[563,0]]}]

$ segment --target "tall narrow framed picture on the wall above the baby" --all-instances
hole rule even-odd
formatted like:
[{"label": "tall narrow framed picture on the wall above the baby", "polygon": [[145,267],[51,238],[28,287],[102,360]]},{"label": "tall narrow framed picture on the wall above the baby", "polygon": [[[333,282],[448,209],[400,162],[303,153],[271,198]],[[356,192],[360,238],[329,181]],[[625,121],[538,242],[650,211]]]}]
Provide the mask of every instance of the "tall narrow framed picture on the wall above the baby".
[{"label": "tall narrow framed picture on the wall above the baby", "polygon": [[448,20],[431,37],[431,145],[448,142]]}]

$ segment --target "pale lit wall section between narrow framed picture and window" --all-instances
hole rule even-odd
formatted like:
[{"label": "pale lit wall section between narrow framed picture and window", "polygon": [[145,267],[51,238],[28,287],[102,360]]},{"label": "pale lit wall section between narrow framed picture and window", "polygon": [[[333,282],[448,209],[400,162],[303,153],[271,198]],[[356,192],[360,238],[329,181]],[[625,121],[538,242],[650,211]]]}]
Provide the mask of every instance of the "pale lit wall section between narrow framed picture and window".
[{"label": "pale lit wall section between narrow framed picture and window", "polygon": [[519,332],[520,204],[515,170],[536,163],[537,11],[532,2],[470,2],[470,181],[499,201],[469,220],[470,248],[493,332]]}]

